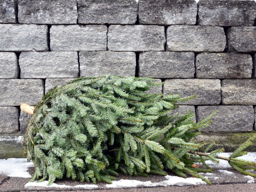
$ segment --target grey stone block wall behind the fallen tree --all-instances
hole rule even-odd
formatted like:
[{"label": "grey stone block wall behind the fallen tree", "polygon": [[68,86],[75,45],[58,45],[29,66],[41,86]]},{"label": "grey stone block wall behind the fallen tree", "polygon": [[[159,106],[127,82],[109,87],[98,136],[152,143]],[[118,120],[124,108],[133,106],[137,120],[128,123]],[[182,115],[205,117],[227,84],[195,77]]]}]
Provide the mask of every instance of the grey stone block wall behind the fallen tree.
[{"label": "grey stone block wall behind the fallen tree", "polygon": [[200,121],[219,110],[197,140],[232,151],[256,131],[255,18],[250,0],[1,0],[0,158],[21,154],[22,102],[106,74],[165,83],[148,92],[196,94],[174,113]]}]

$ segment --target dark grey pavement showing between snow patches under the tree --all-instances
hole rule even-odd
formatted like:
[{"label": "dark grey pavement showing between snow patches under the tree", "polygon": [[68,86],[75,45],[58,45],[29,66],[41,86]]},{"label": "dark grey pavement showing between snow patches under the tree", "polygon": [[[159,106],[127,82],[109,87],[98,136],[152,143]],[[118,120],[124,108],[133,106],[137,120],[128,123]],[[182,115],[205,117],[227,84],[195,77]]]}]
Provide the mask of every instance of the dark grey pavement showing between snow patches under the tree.
[{"label": "dark grey pavement showing between snow patches under the tree", "polygon": [[[220,172],[219,170],[227,170],[226,172]],[[33,174],[34,167],[29,168],[29,173]],[[230,173],[232,172],[232,173]],[[169,175],[174,175],[171,172],[168,173]],[[45,188],[45,187],[27,187],[25,188],[24,185],[28,182],[29,178],[20,178],[20,177],[8,177],[0,175],[0,191],[8,191],[8,192],[21,192],[21,191],[101,191],[104,190],[106,192],[110,191],[127,191],[127,192],[148,192],[148,191],[256,191],[256,183],[247,183],[247,181],[251,180],[245,175],[237,172],[233,168],[215,168],[212,173],[203,173],[204,176],[208,177],[209,180],[212,181],[212,186],[208,185],[191,185],[191,186],[167,186],[167,187],[136,187],[136,188],[106,188],[105,183],[97,183],[99,186],[97,189],[92,190],[83,190],[82,188]],[[218,178],[217,178],[218,177]],[[125,176],[120,174],[116,178],[116,180],[125,179],[128,180],[140,180],[140,181],[151,181],[159,182],[166,180],[162,176],[157,175],[149,175],[149,177],[133,177],[133,176]],[[56,184],[59,185],[69,185],[69,186],[76,186],[80,184],[89,184],[89,183],[81,183],[78,181],[73,181],[70,179],[64,180],[56,180]]]}]

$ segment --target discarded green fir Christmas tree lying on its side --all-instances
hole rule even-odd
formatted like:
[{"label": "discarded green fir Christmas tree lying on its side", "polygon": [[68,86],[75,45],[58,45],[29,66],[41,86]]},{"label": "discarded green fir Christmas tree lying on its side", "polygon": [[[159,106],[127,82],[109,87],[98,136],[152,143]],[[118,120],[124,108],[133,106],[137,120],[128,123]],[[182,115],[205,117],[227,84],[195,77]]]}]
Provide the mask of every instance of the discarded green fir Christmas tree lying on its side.
[{"label": "discarded green fir Christmas tree lying on its side", "polygon": [[[246,154],[254,135],[230,157],[224,149],[197,152],[204,143],[191,140],[211,124],[211,118],[194,123],[194,113],[171,115],[177,103],[195,97],[146,94],[150,86],[162,86],[142,77],[100,76],[77,78],[53,88],[38,102],[28,124],[24,146],[28,160],[35,164],[30,181],[58,178],[111,183],[119,172],[147,176],[166,175],[164,169],[186,177],[186,173],[211,182],[198,172],[212,172],[205,164],[225,159],[244,174],[256,164],[236,157]],[[22,107],[24,110],[24,106]],[[195,155],[193,155],[195,154]],[[202,162],[205,168],[195,168]]]}]

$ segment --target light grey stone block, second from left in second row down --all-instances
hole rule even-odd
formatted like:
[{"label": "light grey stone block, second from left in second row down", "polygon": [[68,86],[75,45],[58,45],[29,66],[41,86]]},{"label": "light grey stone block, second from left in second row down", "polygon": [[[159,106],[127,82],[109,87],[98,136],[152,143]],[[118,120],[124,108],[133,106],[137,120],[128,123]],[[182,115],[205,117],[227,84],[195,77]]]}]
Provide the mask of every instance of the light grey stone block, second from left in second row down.
[{"label": "light grey stone block, second from left in second row down", "polygon": [[51,51],[107,51],[105,25],[53,25]]}]

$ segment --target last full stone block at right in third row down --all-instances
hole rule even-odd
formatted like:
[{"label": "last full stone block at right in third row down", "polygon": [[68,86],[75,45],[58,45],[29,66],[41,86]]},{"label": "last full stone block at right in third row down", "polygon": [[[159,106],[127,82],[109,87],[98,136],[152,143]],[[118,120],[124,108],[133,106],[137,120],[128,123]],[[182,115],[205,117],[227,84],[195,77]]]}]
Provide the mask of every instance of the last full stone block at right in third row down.
[{"label": "last full stone block at right in third row down", "polygon": [[199,53],[196,78],[242,79],[252,77],[252,57],[243,53]]}]

